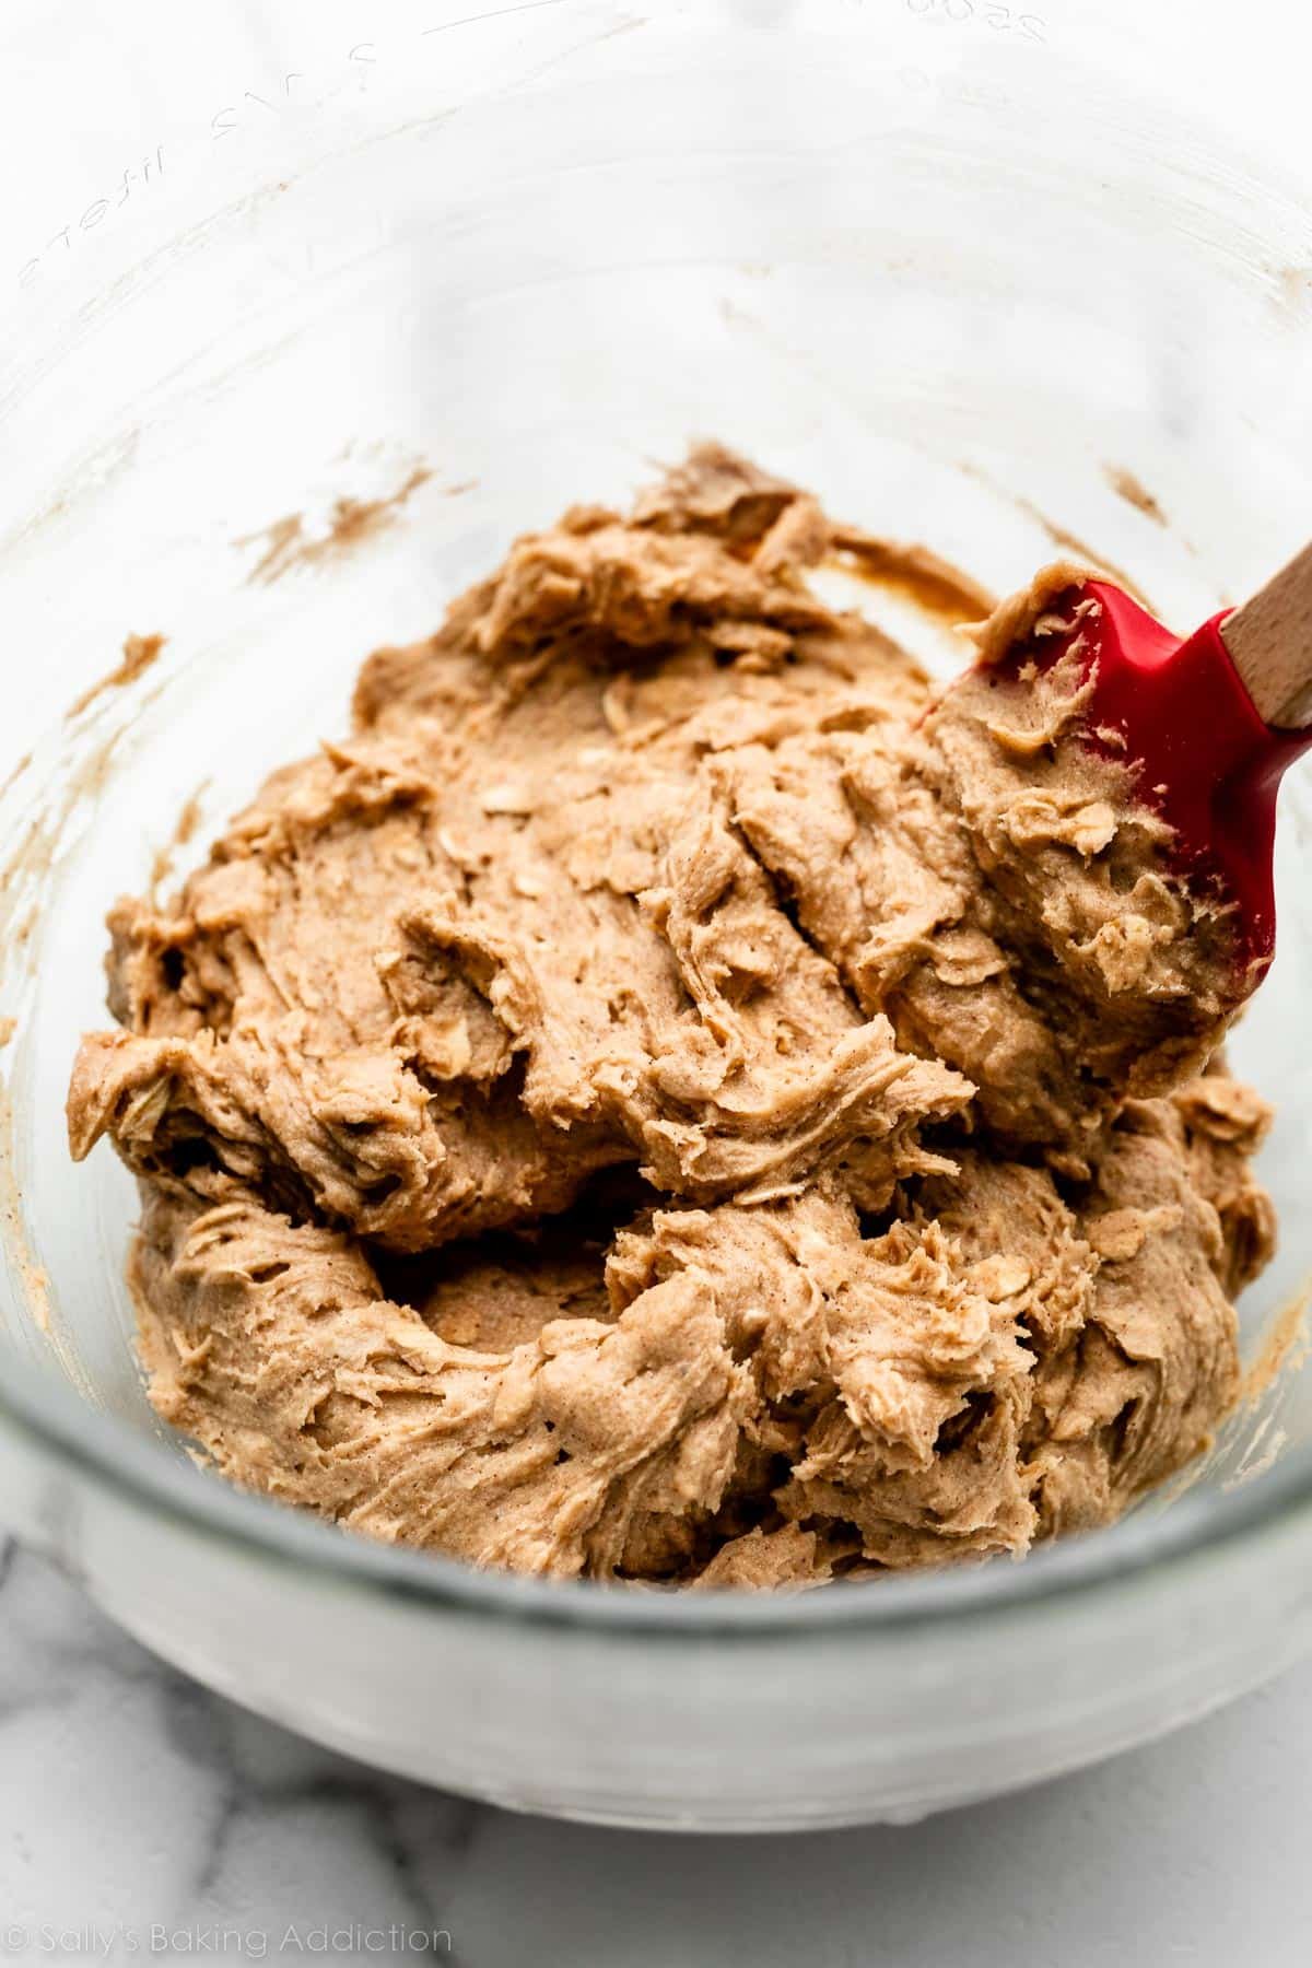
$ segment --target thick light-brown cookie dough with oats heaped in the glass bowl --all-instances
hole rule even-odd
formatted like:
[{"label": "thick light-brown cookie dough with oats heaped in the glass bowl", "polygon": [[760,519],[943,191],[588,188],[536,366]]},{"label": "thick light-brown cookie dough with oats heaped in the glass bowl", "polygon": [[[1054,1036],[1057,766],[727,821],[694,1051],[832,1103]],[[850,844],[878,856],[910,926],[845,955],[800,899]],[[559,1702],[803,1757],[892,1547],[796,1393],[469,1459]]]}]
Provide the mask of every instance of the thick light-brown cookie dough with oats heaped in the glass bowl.
[{"label": "thick light-brown cookie dough with oats heaped in the glass bowl", "polygon": [[574,508],[175,901],[75,1155],[151,1399],[240,1484],[535,1572],[814,1584],[1105,1523],[1237,1391],[1263,1102],[1227,911],[1082,744],[1048,569],[934,705],[887,559],[700,447]]}]

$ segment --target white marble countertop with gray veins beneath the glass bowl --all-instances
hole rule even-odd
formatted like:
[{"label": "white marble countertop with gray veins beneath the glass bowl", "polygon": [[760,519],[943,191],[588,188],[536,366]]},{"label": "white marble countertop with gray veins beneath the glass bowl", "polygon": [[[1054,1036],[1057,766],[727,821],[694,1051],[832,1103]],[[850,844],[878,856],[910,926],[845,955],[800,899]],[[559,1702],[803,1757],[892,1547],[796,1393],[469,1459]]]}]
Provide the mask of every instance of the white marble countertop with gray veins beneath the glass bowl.
[{"label": "white marble countertop with gray veins beneath the glass bowl", "polygon": [[1312,1665],[1170,1742],[909,1830],[643,1836],[315,1750],[161,1667],[43,1561],[0,1553],[0,1960],[1312,1960]]}]

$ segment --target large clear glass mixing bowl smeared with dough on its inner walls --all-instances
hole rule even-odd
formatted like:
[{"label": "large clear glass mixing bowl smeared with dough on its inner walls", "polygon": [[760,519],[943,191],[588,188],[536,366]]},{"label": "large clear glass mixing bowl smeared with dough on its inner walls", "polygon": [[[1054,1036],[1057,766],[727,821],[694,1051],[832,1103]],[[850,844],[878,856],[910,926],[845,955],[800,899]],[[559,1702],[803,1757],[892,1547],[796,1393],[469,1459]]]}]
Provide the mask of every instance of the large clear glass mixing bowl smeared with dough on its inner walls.
[{"label": "large clear glass mixing bowl smeared with dough on its inner walls", "polygon": [[[1023,1565],[801,1598],[482,1576],[191,1466],[132,1350],[132,1185],[63,1136],[104,911],[187,801],[181,864],[342,728],[372,646],[690,435],[995,588],[1088,541],[1180,628],[1300,545],[1312,173],[1279,0],[1243,31],[1192,0],[6,26],[0,1515],[224,1694],[612,1822],[913,1816],[1290,1659],[1312,1380],[1259,1374],[1188,1494]],[[157,661],[94,691],[130,632]],[[1310,838],[1302,777],[1233,1047],[1281,1112],[1249,1360],[1312,1265]]]}]

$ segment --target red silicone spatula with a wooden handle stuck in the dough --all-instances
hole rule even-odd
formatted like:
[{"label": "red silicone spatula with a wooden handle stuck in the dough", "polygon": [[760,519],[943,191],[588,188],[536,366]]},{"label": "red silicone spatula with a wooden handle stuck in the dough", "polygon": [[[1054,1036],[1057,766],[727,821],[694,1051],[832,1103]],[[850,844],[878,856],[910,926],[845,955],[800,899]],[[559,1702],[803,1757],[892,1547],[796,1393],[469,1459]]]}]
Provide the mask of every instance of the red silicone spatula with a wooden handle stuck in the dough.
[{"label": "red silicone spatula with a wooden handle stuck in the dough", "polygon": [[1139,797],[1174,827],[1182,866],[1237,903],[1257,984],[1275,951],[1275,795],[1312,746],[1312,547],[1184,642],[1111,581],[1072,583],[1052,614],[1070,618],[1078,602],[1096,606],[1003,663],[1070,653],[1084,665],[1088,742],[1139,764]]}]

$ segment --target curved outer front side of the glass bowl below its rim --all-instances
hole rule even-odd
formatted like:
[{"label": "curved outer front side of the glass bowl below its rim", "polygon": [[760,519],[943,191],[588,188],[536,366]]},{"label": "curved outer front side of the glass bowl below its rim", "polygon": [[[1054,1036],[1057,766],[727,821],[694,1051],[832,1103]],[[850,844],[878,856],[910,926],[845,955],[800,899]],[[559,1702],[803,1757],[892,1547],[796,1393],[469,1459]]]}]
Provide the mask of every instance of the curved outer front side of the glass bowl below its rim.
[{"label": "curved outer front side of the glass bowl below its rim", "polygon": [[0,1494],[114,1620],[220,1694],[401,1775],[606,1824],[905,1822],[1161,1736],[1312,1641],[1302,1513],[928,1633],[698,1633],[435,1606],[289,1565],[16,1429],[0,1431]]}]

